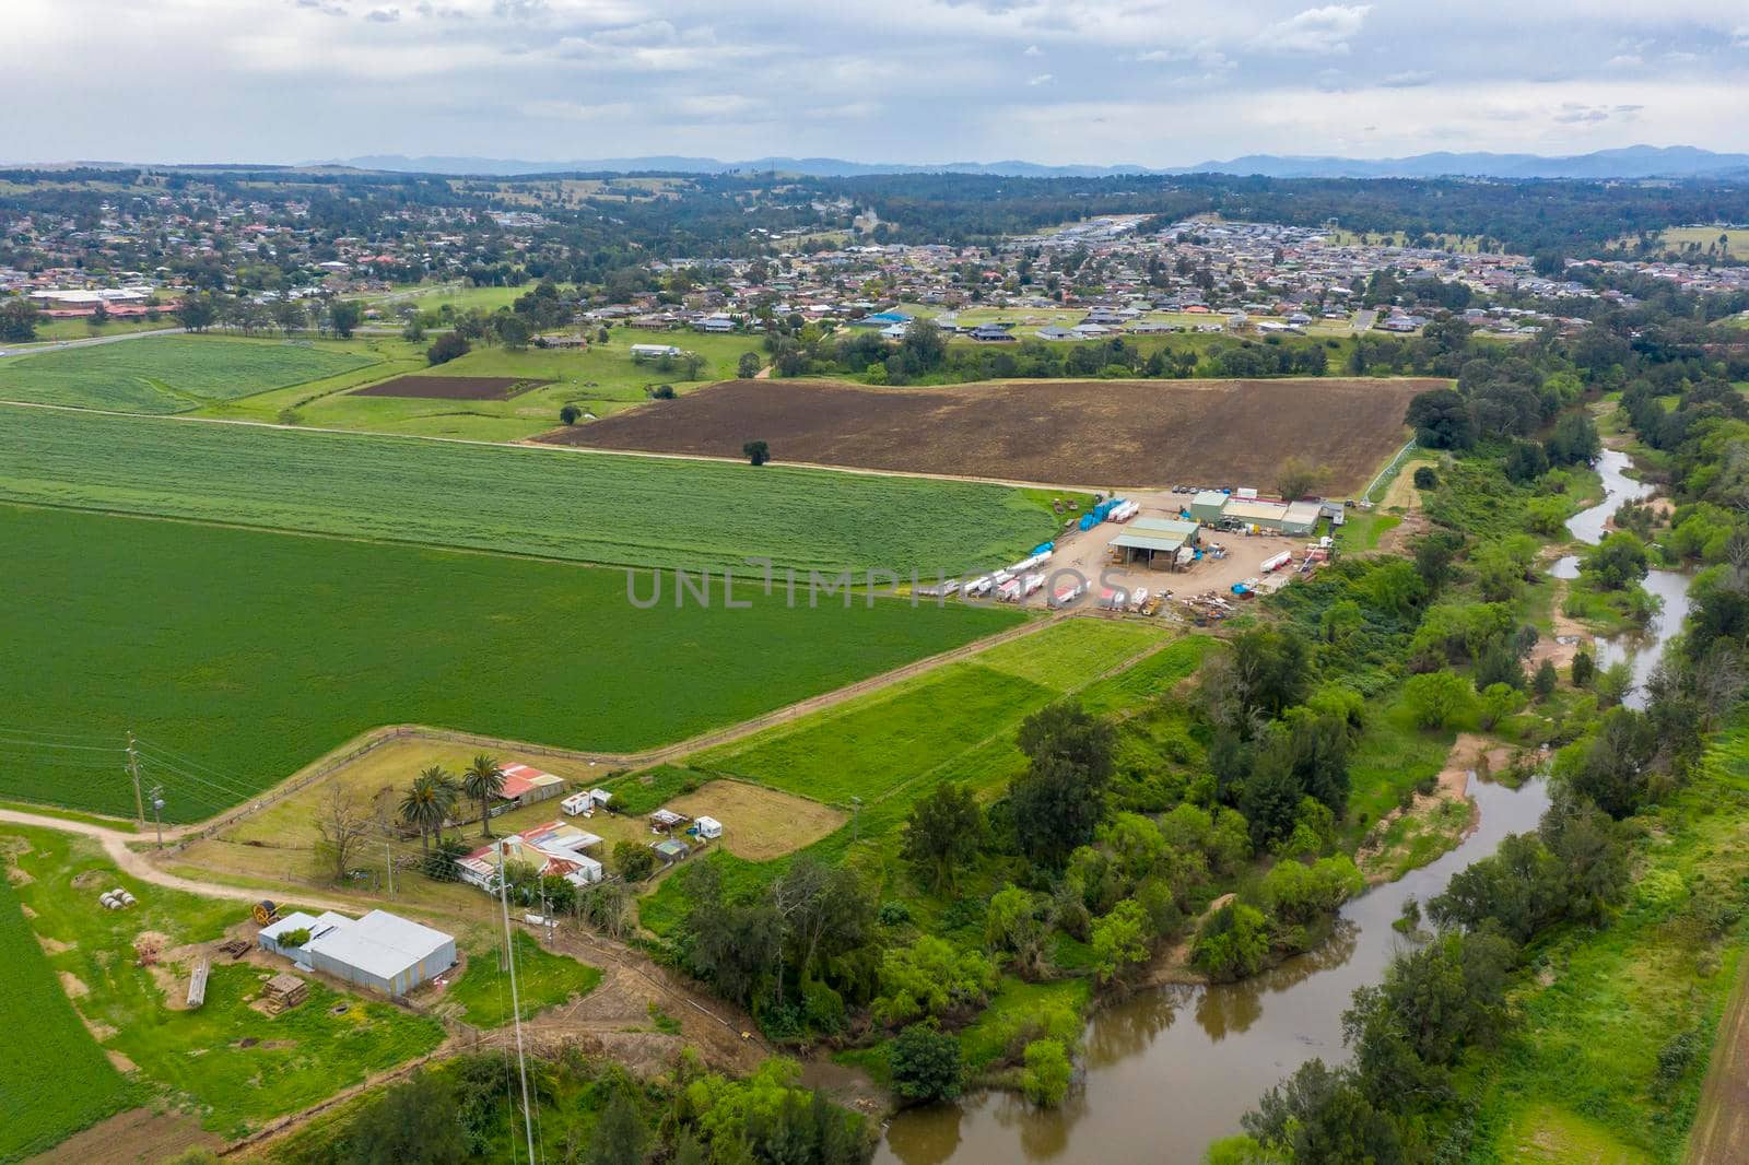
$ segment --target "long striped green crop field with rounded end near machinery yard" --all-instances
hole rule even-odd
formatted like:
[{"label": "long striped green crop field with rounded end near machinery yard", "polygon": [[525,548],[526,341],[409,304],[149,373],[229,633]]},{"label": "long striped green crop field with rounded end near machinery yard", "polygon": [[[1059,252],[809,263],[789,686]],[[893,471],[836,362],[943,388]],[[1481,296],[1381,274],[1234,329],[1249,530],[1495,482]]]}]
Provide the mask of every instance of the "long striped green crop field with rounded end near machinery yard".
[{"label": "long striped green crop field with rounded end near machinery yard", "polygon": [[0,422],[0,500],[749,577],[749,556],[930,577],[1056,532],[976,483],[28,408]]}]

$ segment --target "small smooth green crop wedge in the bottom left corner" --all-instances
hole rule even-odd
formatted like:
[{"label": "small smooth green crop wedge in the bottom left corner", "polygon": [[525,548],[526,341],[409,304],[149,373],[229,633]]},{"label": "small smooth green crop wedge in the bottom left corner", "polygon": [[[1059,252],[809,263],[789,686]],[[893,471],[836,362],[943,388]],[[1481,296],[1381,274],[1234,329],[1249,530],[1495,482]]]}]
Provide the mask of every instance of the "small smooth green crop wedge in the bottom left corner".
[{"label": "small smooth green crop wedge in the bottom left corner", "polygon": [[[0,1162],[17,1162],[128,1107],[133,1090],[79,1022],[3,876],[0,962],[0,1030],[21,1057],[0,1072]],[[26,1048],[33,1064],[52,1065],[52,1088],[42,1088],[37,1072],[16,1071]]]}]

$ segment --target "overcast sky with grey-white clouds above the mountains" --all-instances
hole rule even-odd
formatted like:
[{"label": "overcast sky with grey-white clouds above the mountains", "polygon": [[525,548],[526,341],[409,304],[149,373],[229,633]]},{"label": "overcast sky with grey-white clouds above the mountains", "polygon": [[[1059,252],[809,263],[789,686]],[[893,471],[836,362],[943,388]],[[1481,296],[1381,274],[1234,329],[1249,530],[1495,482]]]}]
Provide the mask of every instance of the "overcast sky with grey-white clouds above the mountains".
[{"label": "overcast sky with grey-white clouds above the mountains", "polygon": [[9,161],[1749,150],[1749,0],[3,0]]}]

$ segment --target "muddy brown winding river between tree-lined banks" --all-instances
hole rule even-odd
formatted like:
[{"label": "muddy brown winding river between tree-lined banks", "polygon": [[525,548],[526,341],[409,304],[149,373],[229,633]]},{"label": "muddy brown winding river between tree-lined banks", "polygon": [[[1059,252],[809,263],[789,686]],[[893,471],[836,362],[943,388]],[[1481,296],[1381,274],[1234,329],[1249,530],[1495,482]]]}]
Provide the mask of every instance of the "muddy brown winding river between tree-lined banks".
[{"label": "muddy brown winding river between tree-lined banks", "polygon": [[[1616,506],[1649,493],[1625,474],[1630,465],[1625,453],[1602,455],[1597,469],[1604,502],[1567,523],[1574,539],[1595,544]],[[1564,558],[1555,574],[1571,577],[1576,569],[1576,558]],[[1600,661],[1630,659],[1639,680],[1683,624],[1688,576],[1655,570],[1646,588],[1663,598],[1662,617],[1644,633],[1599,644]],[[1404,945],[1390,927],[1403,903],[1439,894],[1455,873],[1492,854],[1506,834],[1534,829],[1548,808],[1541,778],[1518,791],[1471,780],[1469,794],[1480,810],[1476,831],[1436,862],[1343,906],[1334,934],[1320,948],[1245,983],[1147,990],[1097,1011],[1086,1027],[1086,1086],[1062,1109],[1039,1111],[1009,1093],[908,1109],[894,1118],[874,1160],[881,1165],[1202,1160],[1209,1142],[1238,1132],[1238,1118],[1284,1076],[1312,1057],[1331,1062],[1347,1057],[1341,1013],[1354,988],[1376,983]]]}]

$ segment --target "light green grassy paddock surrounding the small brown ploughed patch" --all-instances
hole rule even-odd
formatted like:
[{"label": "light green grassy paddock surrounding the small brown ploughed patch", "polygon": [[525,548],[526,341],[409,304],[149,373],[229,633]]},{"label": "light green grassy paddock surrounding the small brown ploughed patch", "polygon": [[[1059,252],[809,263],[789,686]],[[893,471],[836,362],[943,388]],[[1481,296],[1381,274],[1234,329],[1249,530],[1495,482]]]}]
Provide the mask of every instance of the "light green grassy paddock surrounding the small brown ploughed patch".
[{"label": "light green grassy paddock surrounding the small brown ploughed patch", "polygon": [[[735,376],[736,360],[747,352],[759,350],[757,339],[749,336],[649,332],[628,327],[616,327],[609,336],[605,345],[591,343],[582,350],[474,348],[437,369],[425,364],[427,343],[415,345],[399,336],[366,336],[350,341],[348,346],[380,360],[371,369],[373,376],[352,376],[268,392],[245,401],[217,404],[199,415],[423,437],[521,441],[558,425],[560,409],[567,404],[591,418],[644,404],[651,399],[651,390],[659,385],[670,385],[679,394],[691,392],[694,381],[686,380],[684,362],[638,362],[631,359],[631,345],[658,343],[673,345],[682,352],[696,352],[705,359],[705,366],[698,369],[701,380],[696,383]],[[348,392],[366,380],[387,380],[397,373],[442,378],[500,376],[542,381],[542,387],[495,401],[385,397]]]}]

